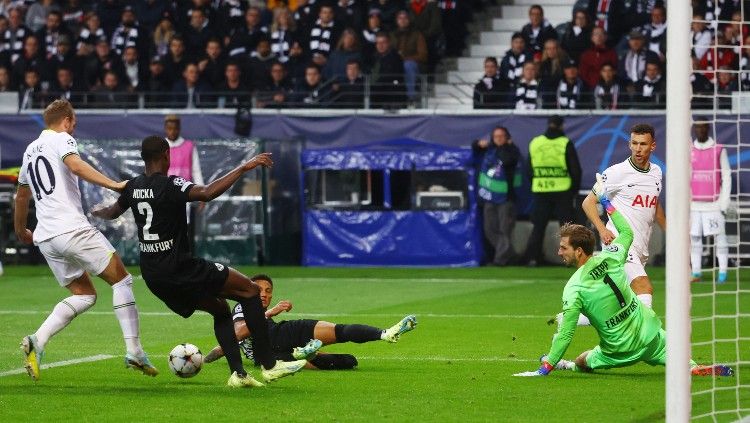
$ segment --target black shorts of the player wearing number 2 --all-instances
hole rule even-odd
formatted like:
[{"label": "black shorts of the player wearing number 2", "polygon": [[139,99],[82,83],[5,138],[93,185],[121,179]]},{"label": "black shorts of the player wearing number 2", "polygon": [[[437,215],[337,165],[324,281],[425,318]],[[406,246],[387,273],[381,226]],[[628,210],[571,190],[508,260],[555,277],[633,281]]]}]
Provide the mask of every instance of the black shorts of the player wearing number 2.
[{"label": "black shorts of the player wearing number 2", "polygon": [[143,279],[170,310],[187,318],[195,312],[199,301],[216,298],[228,275],[228,266],[193,257],[180,263],[179,269],[144,274]]}]

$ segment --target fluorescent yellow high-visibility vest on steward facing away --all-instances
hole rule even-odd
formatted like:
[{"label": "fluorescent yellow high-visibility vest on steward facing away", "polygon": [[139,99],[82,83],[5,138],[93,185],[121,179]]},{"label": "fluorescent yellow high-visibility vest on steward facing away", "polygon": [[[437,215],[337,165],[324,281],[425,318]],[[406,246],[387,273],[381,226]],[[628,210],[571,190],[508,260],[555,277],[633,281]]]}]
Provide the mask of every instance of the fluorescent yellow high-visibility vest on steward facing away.
[{"label": "fluorescent yellow high-visibility vest on steward facing away", "polygon": [[547,138],[544,135],[531,140],[529,156],[531,157],[532,180],[531,192],[563,192],[570,190],[573,184],[565,162],[565,149],[570,140],[568,137]]}]

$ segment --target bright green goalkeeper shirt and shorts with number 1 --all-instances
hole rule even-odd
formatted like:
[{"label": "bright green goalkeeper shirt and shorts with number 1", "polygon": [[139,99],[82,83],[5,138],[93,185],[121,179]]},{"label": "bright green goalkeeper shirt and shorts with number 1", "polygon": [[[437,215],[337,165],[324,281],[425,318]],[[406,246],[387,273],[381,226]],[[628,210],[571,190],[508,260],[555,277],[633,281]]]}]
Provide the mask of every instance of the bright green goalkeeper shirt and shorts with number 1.
[{"label": "bright green goalkeeper shirt and shorts with number 1", "polygon": [[588,317],[599,333],[599,347],[604,353],[638,351],[661,329],[661,320],[636,297],[625,275],[623,266],[633,231],[620,212],[615,211],[610,219],[619,236],[579,267],[565,285],[563,320],[547,358],[552,365],[568,349],[579,313]]}]

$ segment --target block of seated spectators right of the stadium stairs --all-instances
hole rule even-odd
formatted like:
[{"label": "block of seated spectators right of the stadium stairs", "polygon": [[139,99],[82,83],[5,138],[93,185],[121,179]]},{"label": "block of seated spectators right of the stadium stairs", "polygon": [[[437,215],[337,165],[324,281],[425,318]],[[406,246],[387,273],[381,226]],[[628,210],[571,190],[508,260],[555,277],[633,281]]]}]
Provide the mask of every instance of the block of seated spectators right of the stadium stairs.
[{"label": "block of seated spectators right of the stadium stairs", "polygon": [[[692,5],[693,108],[712,108],[714,101],[729,108],[732,92],[750,89],[741,0]],[[663,109],[666,28],[663,0],[579,1],[571,21],[557,26],[541,6],[531,6],[529,22],[513,34],[500,62],[485,59],[474,107]]]}]

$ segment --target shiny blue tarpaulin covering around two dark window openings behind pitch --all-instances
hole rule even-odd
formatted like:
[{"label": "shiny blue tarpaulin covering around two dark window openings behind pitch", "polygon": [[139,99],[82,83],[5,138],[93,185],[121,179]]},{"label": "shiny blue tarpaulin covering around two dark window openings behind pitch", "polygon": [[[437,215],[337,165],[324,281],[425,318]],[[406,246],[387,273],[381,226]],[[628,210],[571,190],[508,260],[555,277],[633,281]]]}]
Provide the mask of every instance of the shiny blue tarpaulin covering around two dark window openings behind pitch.
[{"label": "shiny blue tarpaulin covering around two dark window openings behind pitch", "polygon": [[[356,147],[305,150],[310,170],[464,172],[466,204],[452,210],[393,210],[390,187],[378,209],[313,207],[303,212],[303,264],[308,266],[477,266],[482,251],[476,220],[471,150],[401,138]],[[302,186],[305,186],[304,182]]]}]

